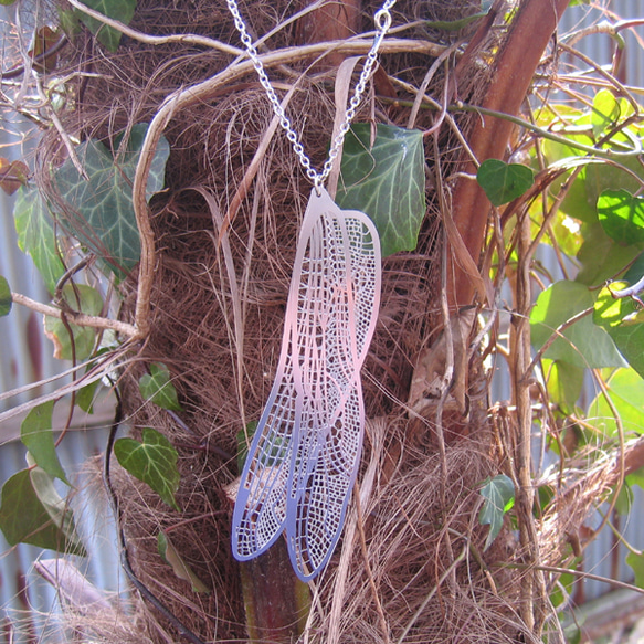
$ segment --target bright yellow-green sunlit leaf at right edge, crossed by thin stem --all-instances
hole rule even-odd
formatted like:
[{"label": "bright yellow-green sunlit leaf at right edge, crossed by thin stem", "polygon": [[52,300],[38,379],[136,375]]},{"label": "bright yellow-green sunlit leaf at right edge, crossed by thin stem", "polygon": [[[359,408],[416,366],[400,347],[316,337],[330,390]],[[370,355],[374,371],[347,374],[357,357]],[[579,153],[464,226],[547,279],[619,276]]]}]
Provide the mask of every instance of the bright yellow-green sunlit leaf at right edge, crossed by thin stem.
[{"label": "bright yellow-green sunlit leaf at right edge, crossed by thin stem", "polygon": [[[606,388],[615,405],[624,432],[644,434],[644,380],[633,369],[617,369],[606,382]],[[613,412],[604,395],[599,393],[587,412],[588,423],[606,436],[617,434]]]}]

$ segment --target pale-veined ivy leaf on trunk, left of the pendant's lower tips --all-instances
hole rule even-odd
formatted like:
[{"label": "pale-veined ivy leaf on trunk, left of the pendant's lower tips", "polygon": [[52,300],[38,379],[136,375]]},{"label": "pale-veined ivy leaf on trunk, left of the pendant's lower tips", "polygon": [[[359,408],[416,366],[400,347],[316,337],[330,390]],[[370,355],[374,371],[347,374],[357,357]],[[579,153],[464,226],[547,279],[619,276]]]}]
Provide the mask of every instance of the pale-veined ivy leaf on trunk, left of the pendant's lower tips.
[{"label": "pale-veined ivy leaf on trunk, left of the pendant's lower tips", "polygon": [[145,427],[142,441],[118,439],[114,454],[133,476],[147,483],[170,507],[179,510],[175,493],[179,489],[177,450],[163,434]]}]

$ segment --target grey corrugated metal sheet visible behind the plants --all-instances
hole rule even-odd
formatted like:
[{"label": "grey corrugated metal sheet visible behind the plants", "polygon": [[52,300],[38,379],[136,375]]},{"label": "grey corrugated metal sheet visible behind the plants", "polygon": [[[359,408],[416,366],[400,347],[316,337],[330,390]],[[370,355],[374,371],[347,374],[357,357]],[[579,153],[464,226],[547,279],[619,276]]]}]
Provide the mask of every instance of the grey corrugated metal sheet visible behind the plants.
[{"label": "grey corrugated metal sheet visible behind the plants", "polygon": [[[644,15],[642,0],[614,0],[606,3],[606,10],[614,11],[621,18],[637,18]],[[0,8],[2,14],[7,9]],[[561,22],[560,32],[580,29],[585,24],[597,22],[602,12],[597,8],[576,7],[570,9]],[[636,28],[640,41],[644,41],[644,28]],[[627,43],[625,82],[630,85],[644,85],[644,54],[637,38],[632,31],[623,32]],[[600,64],[610,64],[614,42],[609,35],[597,34],[584,39],[577,45]],[[0,145],[7,141],[7,133],[0,129]],[[3,138],[4,137],[4,138]],[[2,149],[2,156],[18,158],[19,147]],[[11,218],[11,199],[0,191],[0,275],[9,281],[14,291],[23,293],[33,299],[46,300],[45,289],[31,262],[17,247],[15,231]],[[545,257],[545,261],[549,260]],[[550,266],[555,270],[555,265]],[[51,345],[41,331],[39,317],[20,307],[14,307],[10,316],[0,318],[0,391],[6,392],[15,387],[28,384],[42,377],[49,377],[62,368],[61,363],[51,357]],[[507,380],[498,378],[495,383],[496,394],[507,397],[509,390]],[[21,394],[10,401],[0,401],[0,411],[7,405],[22,402],[29,393]],[[62,458],[70,468],[83,463],[91,454],[103,450],[104,431],[78,433],[73,441],[66,441],[62,450]],[[23,466],[24,450],[20,444],[10,443],[0,448],[0,479],[6,481],[11,474]],[[83,489],[83,485],[81,485]],[[635,510],[632,516],[644,516],[644,495],[637,490]],[[80,521],[93,557],[85,564],[89,579],[101,588],[117,590],[122,581],[120,567],[115,555],[114,531],[109,524],[96,524],[96,517],[109,516],[102,502],[95,496],[81,496],[85,511]],[[599,520],[599,517],[597,518]],[[633,545],[644,548],[644,532],[635,522],[623,527],[626,539]],[[614,552],[615,542],[609,530],[604,530],[587,553],[585,569],[597,574],[611,577],[611,561],[617,561],[621,579],[629,579],[630,569],[624,564],[622,550]],[[39,555],[36,548],[19,546],[8,550],[0,535],[0,552],[6,555],[0,559],[0,605],[12,609],[30,609],[36,612],[50,613],[55,605],[51,589],[35,579],[31,572],[31,562]],[[605,584],[585,582],[588,598],[605,592]],[[42,623],[42,620],[40,620]],[[36,626],[34,625],[34,629]],[[18,640],[15,640],[18,641]]]}]

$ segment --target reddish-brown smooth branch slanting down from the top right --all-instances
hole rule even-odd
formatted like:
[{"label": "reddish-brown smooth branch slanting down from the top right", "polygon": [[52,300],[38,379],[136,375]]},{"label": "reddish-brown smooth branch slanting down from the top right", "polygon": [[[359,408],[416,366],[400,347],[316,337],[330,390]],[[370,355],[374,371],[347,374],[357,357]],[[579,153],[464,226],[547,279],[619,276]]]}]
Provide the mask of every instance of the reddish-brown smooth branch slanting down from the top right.
[{"label": "reddish-brown smooth branch slanting down from the top right", "polygon": [[[482,107],[517,115],[532,76],[569,0],[522,0],[511,31],[495,62],[495,73]],[[478,161],[503,159],[515,126],[506,119],[482,117],[469,137],[469,147]],[[464,155],[464,160],[468,159]],[[476,173],[471,161],[463,170]],[[458,179],[453,193],[452,217],[474,262],[484,243],[489,201],[476,181]],[[475,284],[454,262],[451,271],[451,304],[472,304]],[[483,294],[478,294],[479,297]]]}]

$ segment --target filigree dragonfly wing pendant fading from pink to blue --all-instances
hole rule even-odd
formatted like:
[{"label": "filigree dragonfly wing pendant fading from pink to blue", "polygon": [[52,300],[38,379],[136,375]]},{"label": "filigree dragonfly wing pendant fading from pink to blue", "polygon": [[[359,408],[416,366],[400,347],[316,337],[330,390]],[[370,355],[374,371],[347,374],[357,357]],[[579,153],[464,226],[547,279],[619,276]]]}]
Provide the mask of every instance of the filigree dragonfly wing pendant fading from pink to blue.
[{"label": "filigree dragonfly wing pendant fading from pink to blue", "polygon": [[339,539],[362,448],[360,369],[380,305],[371,220],[321,189],[308,202],[288,292],[275,382],[244,465],[232,548],[244,561],[286,530],[308,581]]}]

